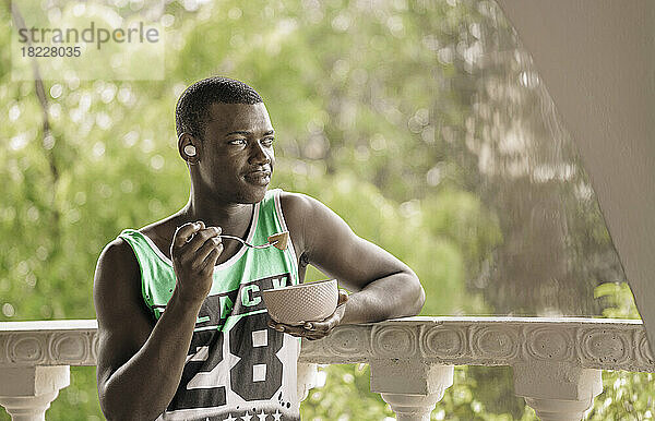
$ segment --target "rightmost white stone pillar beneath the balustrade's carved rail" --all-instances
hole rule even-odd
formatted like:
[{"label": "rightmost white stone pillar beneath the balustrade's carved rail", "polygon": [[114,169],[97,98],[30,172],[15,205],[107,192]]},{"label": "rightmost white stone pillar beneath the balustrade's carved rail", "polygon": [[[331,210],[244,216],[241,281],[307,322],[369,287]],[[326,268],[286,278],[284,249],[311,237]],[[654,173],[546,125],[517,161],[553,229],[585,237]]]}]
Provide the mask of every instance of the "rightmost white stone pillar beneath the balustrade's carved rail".
[{"label": "rightmost white stone pillar beneath the balustrade's carved rail", "polygon": [[514,365],[514,393],[543,421],[580,421],[603,392],[600,370],[569,363]]}]

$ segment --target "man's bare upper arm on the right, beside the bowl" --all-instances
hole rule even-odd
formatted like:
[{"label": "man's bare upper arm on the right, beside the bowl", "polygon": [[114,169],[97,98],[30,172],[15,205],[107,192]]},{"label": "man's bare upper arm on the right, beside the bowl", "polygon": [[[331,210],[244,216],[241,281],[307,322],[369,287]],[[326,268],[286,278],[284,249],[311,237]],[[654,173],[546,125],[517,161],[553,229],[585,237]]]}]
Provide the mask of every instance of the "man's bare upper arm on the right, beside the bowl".
[{"label": "man's bare upper arm on the right, beside the bowl", "polygon": [[350,291],[374,279],[412,269],[388,251],[358,237],[332,209],[302,194],[285,193],[283,208],[289,230],[300,232],[303,260],[335,277]]}]

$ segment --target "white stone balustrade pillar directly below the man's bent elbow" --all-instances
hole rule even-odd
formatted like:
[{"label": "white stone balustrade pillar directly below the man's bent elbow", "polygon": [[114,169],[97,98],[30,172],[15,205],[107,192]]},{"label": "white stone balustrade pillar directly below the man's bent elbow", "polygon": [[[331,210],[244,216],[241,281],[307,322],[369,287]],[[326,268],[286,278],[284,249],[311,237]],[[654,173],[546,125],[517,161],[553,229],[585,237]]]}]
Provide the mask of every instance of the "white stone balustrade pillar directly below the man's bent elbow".
[{"label": "white stone balustrade pillar directly below the man's bent elbow", "polygon": [[421,361],[372,361],[371,392],[382,395],[398,421],[429,421],[446,388],[453,385],[453,365]]}]

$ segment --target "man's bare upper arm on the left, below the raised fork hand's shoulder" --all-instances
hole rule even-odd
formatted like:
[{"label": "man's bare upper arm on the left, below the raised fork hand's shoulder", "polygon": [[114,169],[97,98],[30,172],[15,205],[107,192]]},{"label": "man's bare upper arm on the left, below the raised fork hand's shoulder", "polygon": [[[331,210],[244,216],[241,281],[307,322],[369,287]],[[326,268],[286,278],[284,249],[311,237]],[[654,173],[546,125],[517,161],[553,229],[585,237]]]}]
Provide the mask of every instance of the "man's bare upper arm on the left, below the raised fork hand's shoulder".
[{"label": "man's bare upper arm on the left, below the raised fork hand's shoulder", "polygon": [[98,320],[98,390],[148,338],[154,321],[141,301],[141,272],[130,245],[122,239],[100,253],[93,298]]}]

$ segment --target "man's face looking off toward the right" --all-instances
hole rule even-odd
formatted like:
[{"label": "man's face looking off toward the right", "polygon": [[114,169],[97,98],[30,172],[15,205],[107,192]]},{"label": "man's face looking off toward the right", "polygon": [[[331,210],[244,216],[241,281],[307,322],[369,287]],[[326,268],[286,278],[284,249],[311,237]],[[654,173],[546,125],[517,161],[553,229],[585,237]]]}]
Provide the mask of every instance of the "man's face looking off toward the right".
[{"label": "man's face looking off toward the right", "polygon": [[266,107],[218,103],[209,116],[199,168],[203,183],[227,202],[260,202],[275,165]]}]

